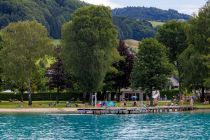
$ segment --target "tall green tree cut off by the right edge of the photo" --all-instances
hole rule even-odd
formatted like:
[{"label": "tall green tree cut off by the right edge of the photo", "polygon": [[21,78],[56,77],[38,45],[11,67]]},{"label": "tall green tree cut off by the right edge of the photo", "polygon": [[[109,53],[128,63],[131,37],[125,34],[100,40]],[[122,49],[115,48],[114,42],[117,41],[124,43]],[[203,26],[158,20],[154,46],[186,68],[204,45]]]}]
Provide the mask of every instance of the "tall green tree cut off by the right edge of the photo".
[{"label": "tall green tree cut off by the right edge of the photo", "polygon": [[187,39],[189,43],[180,56],[181,78],[186,87],[202,89],[201,101],[209,78],[208,55],[210,53],[210,5],[200,9],[198,15],[189,21]]}]

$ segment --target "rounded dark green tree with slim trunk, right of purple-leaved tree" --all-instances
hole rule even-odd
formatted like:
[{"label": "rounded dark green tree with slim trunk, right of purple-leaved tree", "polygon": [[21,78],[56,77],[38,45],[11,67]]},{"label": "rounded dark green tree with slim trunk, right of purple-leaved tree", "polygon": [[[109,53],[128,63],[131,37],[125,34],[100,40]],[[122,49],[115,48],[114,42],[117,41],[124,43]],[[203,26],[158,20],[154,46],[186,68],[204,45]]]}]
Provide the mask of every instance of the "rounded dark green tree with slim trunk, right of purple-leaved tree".
[{"label": "rounded dark green tree with slim trunk, right of purple-leaved tree", "polygon": [[134,61],[132,86],[147,91],[151,100],[150,105],[153,105],[152,91],[165,86],[172,68],[166,55],[166,47],[156,39],[145,39],[139,46]]}]

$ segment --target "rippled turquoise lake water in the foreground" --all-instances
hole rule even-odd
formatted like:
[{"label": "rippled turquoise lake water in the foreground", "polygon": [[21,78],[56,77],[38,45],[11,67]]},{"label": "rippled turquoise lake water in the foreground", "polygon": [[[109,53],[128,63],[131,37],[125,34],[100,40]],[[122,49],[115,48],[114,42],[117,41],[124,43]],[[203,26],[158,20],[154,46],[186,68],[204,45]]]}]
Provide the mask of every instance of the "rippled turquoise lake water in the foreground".
[{"label": "rippled turquoise lake water in the foreground", "polygon": [[210,139],[210,113],[0,114],[0,139]]}]

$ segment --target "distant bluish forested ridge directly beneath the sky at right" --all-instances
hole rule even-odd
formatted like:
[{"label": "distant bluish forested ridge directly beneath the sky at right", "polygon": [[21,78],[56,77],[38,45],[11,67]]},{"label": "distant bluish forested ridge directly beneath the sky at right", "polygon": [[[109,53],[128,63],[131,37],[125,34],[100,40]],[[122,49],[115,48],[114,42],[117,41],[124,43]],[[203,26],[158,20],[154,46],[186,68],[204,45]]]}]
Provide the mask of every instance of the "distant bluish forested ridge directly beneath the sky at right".
[{"label": "distant bluish forested ridge directly beneath the sky at right", "polygon": [[124,16],[132,19],[139,20],[152,20],[152,21],[168,21],[184,19],[188,20],[189,15],[180,14],[175,10],[161,10],[158,8],[146,7],[126,7],[113,10],[114,16]]}]

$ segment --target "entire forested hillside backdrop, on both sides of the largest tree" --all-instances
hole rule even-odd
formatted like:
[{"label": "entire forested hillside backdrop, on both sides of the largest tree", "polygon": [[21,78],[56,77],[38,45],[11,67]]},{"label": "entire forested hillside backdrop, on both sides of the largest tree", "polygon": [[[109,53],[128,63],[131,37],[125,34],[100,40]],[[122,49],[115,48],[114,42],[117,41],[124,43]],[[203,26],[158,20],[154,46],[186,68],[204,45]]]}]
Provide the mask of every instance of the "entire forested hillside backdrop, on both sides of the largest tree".
[{"label": "entire forested hillside backdrop, on both sides of the largest tree", "polygon": [[[0,0],[0,28],[15,21],[37,20],[46,26],[51,37],[59,39],[63,23],[71,18],[76,9],[85,5],[88,4],[79,0]],[[113,22],[118,28],[120,39],[153,37],[156,29],[147,20],[188,18],[188,15],[174,10],[157,8],[127,7],[113,10]]]}]

